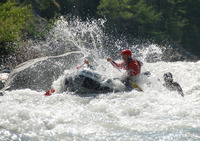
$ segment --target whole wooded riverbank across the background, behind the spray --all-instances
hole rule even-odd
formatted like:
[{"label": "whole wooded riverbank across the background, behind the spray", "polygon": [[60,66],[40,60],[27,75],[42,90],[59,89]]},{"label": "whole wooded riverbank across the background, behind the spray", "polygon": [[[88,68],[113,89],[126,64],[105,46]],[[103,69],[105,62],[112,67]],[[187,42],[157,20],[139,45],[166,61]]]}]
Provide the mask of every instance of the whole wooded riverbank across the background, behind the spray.
[{"label": "whole wooded riverbank across the background, behind the spray", "polygon": [[69,14],[106,18],[105,32],[113,37],[176,44],[199,59],[199,7],[200,0],[1,0],[0,67],[40,57],[28,49],[30,40],[45,40],[53,21]]}]

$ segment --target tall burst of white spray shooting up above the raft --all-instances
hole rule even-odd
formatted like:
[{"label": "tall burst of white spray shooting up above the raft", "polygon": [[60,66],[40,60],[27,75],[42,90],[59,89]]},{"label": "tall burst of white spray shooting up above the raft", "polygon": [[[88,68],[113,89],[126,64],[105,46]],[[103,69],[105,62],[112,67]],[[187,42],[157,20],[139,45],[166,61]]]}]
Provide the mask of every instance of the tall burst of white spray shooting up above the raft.
[{"label": "tall burst of white spray shooting up above the raft", "polygon": [[106,39],[102,29],[104,22],[103,19],[81,21],[77,17],[60,17],[51,31],[51,38],[58,44],[54,50],[62,53],[78,49],[86,56],[102,56],[103,42]]}]

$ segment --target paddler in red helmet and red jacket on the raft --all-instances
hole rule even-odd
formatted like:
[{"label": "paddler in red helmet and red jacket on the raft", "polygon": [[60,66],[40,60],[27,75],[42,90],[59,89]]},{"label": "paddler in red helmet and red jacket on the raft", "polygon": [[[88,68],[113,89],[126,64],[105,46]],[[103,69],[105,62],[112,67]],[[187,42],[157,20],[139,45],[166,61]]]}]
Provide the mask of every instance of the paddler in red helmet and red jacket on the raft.
[{"label": "paddler in red helmet and red jacket on the raft", "polygon": [[131,57],[132,52],[128,49],[123,50],[121,52],[122,59],[124,62],[116,63],[110,57],[107,58],[107,61],[112,61],[118,68],[127,70],[128,76],[136,76],[141,72],[141,66],[143,65],[142,62],[133,59]]}]

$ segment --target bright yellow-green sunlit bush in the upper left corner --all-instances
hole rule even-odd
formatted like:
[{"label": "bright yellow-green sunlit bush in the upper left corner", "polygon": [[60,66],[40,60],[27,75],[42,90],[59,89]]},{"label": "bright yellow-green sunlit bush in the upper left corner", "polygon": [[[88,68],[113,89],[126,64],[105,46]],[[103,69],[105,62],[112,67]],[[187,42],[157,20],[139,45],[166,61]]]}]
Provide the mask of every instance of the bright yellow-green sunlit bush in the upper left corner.
[{"label": "bright yellow-green sunlit bush in the upper left corner", "polygon": [[10,2],[0,5],[0,54],[14,50],[12,45],[18,42],[21,31],[27,28],[31,20],[31,7]]}]

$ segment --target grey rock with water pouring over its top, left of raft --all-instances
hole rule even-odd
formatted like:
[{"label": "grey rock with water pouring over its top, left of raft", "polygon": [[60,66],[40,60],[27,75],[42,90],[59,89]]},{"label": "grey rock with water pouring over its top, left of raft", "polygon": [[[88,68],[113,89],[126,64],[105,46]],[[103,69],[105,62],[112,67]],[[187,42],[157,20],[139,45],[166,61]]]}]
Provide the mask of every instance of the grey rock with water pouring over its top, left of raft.
[{"label": "grey rock with water pouring over its top, left of raft", "polygon": [[24,62],[17,66],[5,84],[7,90],[32,89],[47,91],[52,82],[56,80],[66,69],[75,65],[79,58],[83,57],[80,51],[65,53],[59,56],[37,58]]}]

